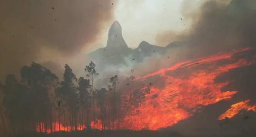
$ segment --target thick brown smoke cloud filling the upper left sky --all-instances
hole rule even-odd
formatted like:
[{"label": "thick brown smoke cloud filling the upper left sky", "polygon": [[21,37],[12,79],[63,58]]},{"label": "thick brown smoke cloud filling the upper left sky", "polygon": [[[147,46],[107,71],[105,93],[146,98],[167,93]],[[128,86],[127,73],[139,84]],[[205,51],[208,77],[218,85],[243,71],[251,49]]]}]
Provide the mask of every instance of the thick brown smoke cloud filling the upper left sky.
[{"label": "thick brown smoke cloud filling the upper left sky", "polygon": [[40,59],[71,57],[98,39],[114,0],[2,0],[0,78]]}]

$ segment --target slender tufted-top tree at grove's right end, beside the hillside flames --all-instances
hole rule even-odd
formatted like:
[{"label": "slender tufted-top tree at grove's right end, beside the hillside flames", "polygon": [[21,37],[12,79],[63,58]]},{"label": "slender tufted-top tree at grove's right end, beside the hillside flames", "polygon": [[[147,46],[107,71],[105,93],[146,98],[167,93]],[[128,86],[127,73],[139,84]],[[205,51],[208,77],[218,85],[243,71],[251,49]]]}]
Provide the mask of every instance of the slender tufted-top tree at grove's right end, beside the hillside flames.
[{"label": "slender tufted-top tree at grove's right end, beside the hillside flames", "polygon": [[112,91],[112,129],[114,130],[114,120],[115,120],[115,115],[116,115],[116,109],[117,109],[117,106],[116,106],[116,84],[119,83],[119,80],[118,80],[118,76],[117,75],[114,75],[114,77],[111,77],[110,80],[109,80],[109,89],[110,91]]}]

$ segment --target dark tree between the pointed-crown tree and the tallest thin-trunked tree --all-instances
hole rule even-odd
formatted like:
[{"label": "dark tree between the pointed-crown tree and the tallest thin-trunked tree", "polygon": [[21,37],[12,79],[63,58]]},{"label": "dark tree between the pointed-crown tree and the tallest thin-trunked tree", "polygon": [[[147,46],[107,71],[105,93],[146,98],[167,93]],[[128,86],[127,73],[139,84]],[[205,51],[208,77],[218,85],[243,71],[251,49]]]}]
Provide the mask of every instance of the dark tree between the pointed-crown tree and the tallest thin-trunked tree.
[{"label": "dark tree between the pointed-crown tree and the tallest thin-trunked tree", "polygon": [[83,77],[80,77],[78,80],[78,90],[79,90],[79,99],[80,99],[80,105],[82,110],[82,123],[83,123],[83,110],[86,111],[86,127],[90,126],[89,123],[89,109],[90,109],[90,92],[88,91],[89,88],[92,86],[90,85],[90,80],[84,79]]}]

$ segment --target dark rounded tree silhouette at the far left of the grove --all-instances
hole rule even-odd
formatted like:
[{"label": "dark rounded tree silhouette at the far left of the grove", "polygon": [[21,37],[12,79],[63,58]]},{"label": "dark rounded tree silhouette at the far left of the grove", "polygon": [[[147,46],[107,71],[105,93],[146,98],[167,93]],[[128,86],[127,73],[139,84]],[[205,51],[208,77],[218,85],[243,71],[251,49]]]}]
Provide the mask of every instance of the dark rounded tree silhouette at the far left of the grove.
[{"label": "dark rounded tree silhouette at the far left of the grove", "polygon": [[[25,85],[19,83],[13,74],[6,76],[3,89],[3,106],[7,108],[7,117],[9,122],[9,135],[23,133],[25,129],[30,130],[35,127],[29,127],[34,108],[29,107],[31,96]],[[32,116],[31,116],[32,115]]]}]

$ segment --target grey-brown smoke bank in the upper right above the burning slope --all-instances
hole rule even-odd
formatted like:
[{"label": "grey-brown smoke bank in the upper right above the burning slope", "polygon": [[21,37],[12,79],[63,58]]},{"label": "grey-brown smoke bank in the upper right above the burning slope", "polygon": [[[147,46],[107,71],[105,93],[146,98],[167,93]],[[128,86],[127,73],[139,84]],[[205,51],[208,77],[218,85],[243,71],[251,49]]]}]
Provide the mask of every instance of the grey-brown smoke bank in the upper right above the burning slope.
[{"label": "grey-brown smoke bank in the upper right above the burning slope", "polygon": [[188,59],[256,46],[256,1],[208,0],[195,3],[185,0],[182,4],[183,20],[191,21],[189,29],[166,31],[156,37],[161,44],[179,42],[173,43],[174,46],[169,44],[172,47],[165,55],[154,54],[133,66],[140,72],[137,74],[144,75]]}]

